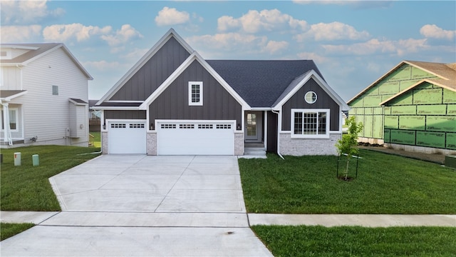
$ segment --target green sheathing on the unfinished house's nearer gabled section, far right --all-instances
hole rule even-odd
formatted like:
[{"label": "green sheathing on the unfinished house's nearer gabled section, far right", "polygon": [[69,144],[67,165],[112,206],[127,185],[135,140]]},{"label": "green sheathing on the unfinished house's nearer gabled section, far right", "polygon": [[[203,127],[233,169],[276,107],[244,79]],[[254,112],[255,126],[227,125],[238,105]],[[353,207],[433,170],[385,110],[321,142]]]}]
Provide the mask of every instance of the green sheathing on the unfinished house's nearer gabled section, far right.
[{"label": "green sheathing on the unfinished house's nearer gabled section, far right", "polygon": [[423,83],[387,104],[385,143],[456,150],[456,92]]}]

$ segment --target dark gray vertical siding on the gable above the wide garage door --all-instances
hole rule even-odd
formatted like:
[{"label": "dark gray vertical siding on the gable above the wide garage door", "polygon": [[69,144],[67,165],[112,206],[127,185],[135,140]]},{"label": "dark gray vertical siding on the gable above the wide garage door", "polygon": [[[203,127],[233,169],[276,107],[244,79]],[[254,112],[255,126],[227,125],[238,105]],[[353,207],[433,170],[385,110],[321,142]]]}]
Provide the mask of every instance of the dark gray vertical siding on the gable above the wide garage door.
[{"label": "dark gray vertical siding on the gable above the wide garage door", "polygon": [[[203,105],[188,105],[188,82],[202,81]],[[198,61],[193,61],[149,106],[149,119],[236,120],[242,106]]]}]

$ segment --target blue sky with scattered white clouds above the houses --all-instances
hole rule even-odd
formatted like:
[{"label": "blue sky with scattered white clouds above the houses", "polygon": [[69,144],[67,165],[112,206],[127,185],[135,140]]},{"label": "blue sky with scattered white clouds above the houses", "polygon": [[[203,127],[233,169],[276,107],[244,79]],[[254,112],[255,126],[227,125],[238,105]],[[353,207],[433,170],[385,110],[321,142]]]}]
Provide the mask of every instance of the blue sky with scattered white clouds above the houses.
[{"label": "blue sky with scattered white clouds above the houses", "polygon": [[63,42],[100,99],[173,28],[204,59],[313,59],[346,101],[403,60],[456,62],[456,1],[4,1],[2,43]]}]

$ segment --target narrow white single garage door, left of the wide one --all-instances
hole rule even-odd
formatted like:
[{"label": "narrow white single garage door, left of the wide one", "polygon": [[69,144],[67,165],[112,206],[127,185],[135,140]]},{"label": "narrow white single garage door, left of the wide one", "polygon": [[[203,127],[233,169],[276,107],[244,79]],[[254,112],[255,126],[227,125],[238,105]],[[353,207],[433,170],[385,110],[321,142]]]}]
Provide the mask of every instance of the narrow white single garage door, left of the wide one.
[{"label": "narrow white single garage door, left of the wide one", "polygon": [[108,153],[146,153],[145,121],[108,121]]}]

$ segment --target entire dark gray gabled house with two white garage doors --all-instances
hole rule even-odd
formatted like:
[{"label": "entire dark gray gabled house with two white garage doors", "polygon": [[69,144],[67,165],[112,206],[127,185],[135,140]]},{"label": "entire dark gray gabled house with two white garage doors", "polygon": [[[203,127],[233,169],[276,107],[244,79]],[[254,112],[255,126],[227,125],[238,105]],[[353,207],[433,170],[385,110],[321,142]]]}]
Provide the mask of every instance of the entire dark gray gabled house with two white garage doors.
[{"label": "entire dark gray gabled house with two white garage doors", "polygon": [[103,153],[336,155],[348,106],[311,60],[205,60],[173,29],[94,109]]}]

